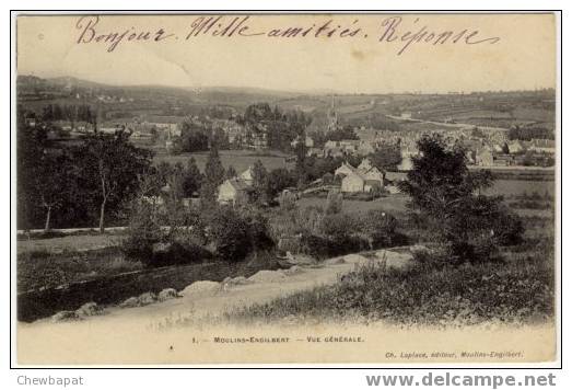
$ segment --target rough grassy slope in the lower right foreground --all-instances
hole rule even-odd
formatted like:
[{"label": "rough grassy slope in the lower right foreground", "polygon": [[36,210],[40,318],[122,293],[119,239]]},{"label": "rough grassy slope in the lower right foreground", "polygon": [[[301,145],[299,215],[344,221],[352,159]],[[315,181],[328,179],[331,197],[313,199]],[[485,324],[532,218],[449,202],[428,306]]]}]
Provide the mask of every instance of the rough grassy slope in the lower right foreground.
[{"label": "rough grassy slope in the lower right foreground", "polygon": [[316,287],[225,314],[231,322],[384,321],[465,326],[538,323],[553,316],[553,268],[534,259],[408,272],[367,265],[332,286]]}]

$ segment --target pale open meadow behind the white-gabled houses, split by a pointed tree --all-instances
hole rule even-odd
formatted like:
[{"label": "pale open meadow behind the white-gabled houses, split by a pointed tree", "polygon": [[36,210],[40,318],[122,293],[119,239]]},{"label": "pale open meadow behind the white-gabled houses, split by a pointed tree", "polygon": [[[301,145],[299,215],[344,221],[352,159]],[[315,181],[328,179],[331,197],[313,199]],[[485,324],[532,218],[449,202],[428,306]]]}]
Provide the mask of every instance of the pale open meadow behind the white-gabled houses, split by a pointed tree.
[{"label": "pale open meadow behind the white-gabled houses, split by a pointed tree", "polygon": [[[194,152],[194,153],[183,153],[183,154],[167,154],[167,153],[156,153],[154,162],[159,163],[161,161],[167,161],[170,163],[180,162],[184,165],[187,161],[194,157],[199,170],[205,170],[205,164],[207,163],[209,153],[208,152]],[[257,152],[254,150],[221,150],[219,151],[221,162],[224,168],[233,165],[236,172],[242,172],[248,169],[248,167],[254,165],[256,160],[260,160],[265,168],[268,171],[271,171],[277,168],[291,168],[291,164],[285,161],[289,157],[285,153],[280,151],[265,150],[262,152]]]}]

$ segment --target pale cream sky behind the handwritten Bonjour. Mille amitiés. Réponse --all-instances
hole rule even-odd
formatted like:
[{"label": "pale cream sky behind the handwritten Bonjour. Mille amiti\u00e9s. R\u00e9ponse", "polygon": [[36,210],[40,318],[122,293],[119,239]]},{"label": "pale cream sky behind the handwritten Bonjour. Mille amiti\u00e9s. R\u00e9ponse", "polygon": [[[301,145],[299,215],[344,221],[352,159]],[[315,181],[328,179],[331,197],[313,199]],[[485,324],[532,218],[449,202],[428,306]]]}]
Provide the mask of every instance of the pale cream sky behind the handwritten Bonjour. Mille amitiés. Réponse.
[{"label": "pale cream sky behind the handwritten Bonjour. Mille amiti\u00e9s. R\u00e9ponse", "polygon": [[[551,14],[250,15],[241,25],[248,27],[243,33],[260,35],[240,36],[235,32],[231,37],[213,36],[213,25],[208,34],[187,39],[197,18],[200,16],[19,16],[16,70],[19,74],[69,76],[120,85],[252,87],[346,93],[556,87],[557,42]],[[234,18],[222,15],[219,30]],[[399,23],[392,24],[397,19]],[[328,21],[327,28],[316,37],[317,28]],[[304,37],[268,36],[272,30],[283,32],[289,27],[311,31]],[[161,28],[161,39],[155,42]],[[334,28],[332,35],[326,36]],[[346,36],[341,37],[339,33],[346,28]],[[357,28],[354,36],[348,35]],[[452,38],[433,44],[434,38],[429,36],[464,31],[456,44]],[[472,31],[478,34],[469,42],[485,42],[466,44],[464,38]],[[127,34],[110,50],[115,41],[105,38],[124,32]],[[128,41],[130,34],[145,32],[150,39]],[[393,33],[392,42],[382,39],[387,32]],[[412,41],[416,33],[422,32],[425,35],[419,42]],[[101,36],[100,42],[96,36]],[[404,48],[409,41],[412,42]]]}]

